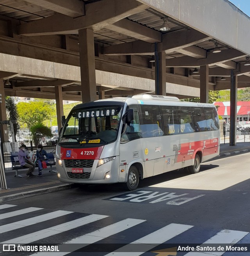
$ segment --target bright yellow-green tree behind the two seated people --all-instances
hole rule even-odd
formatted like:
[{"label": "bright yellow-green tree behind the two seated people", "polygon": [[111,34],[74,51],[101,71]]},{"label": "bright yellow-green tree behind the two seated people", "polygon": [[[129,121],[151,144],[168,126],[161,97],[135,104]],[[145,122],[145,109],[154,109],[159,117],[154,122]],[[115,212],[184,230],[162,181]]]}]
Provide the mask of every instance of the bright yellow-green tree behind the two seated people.
[{"label": "bright yellow-green tree behind the two seated people", "polygon": [[50,117],[52,114],[52,107],[45,102],[19,102],[17,104],[17,111],[19,120],[32,127],[36,124],[42,124],[42,122]]}]

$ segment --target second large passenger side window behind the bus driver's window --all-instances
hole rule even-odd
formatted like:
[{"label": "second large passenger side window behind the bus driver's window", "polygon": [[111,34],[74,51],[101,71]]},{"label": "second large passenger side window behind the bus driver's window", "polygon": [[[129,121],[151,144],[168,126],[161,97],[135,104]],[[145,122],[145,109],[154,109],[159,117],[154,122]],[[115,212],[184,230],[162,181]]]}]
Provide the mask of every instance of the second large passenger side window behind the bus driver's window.
[{"label": "second large passenger side window behind the bus driver's window", "polygon": [[175,106],[161,106],[164,135],[179,134],[179,120]]}]

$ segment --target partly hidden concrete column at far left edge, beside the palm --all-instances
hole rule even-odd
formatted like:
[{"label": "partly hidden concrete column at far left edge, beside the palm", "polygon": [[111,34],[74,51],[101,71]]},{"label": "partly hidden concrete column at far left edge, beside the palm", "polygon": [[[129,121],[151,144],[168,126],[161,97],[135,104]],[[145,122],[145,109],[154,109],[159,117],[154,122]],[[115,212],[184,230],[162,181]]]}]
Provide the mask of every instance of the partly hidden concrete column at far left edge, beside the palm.
[{"label": "partly hidden concrete column at far left edge, beside the palm", "polygon": [[[6,115],[6,105],[5,105],[5,93],[4,93],[4,80],[0,79],[0,94],[2,94],[2,103],[0,103],[0,120],[7,120]],[[7,125],[0,125],[0,131],[1,131],[1,141],[7,142],[9,141],[8,136],[8,127]]]}]

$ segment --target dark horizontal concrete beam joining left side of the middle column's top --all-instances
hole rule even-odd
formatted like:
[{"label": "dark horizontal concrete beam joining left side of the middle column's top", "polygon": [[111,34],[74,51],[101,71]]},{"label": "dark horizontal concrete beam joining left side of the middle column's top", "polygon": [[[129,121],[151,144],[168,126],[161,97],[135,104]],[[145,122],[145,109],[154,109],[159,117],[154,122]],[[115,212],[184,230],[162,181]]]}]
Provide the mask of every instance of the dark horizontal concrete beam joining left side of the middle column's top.
[{"label": "dark horizontal concrete beam joining left side of the middle column's top", "polygon": [[102,48],[104,55],[154,55],[154,45],[141,40]]}]

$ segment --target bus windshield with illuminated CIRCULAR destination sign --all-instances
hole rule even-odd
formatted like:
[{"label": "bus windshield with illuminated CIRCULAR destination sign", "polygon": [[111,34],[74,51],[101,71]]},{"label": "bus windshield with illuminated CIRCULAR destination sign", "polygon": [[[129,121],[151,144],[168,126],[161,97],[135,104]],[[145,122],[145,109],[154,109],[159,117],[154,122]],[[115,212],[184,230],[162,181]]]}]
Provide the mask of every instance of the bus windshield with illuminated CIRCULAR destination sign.
[{"label": "bus windshield with illuminated CIRCULAR destination sign", "polygon": [[91,107],[73,110],[59,138],[59,143],[108,144],[118,135],[122,106]]}]

